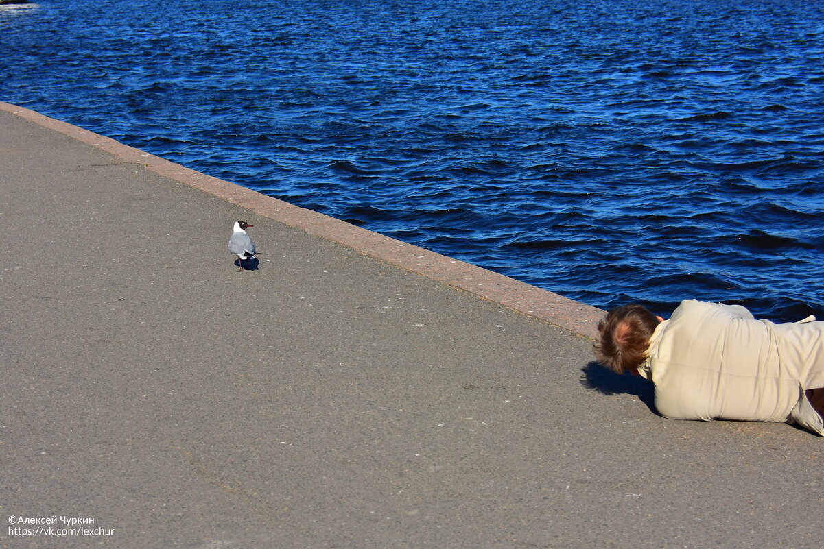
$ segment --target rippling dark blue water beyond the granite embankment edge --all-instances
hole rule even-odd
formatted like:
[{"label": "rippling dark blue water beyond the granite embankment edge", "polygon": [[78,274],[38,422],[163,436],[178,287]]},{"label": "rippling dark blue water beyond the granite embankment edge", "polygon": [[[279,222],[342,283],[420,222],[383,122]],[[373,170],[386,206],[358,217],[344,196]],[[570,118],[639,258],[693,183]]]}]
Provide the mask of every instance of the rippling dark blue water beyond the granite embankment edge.
[{"label": "rippling dark blue water beyond the granite embankment edge", "polygon": [[43,0],[0,100],[575,300],[824,319],[824,2]]}]

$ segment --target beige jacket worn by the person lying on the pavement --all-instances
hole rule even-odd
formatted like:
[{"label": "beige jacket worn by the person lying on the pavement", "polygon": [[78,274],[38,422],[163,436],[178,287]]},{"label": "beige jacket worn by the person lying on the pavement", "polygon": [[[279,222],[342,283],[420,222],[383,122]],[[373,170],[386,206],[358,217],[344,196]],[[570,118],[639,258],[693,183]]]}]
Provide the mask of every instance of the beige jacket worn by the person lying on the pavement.
[{"label": "beige jacket worn by the person lying on the pavement", "polygon": [[804,390],[824,387],[824,322],[756,320],[739,305],[685,300],[658,324],[639,374],[673,419],[798,421],[824,435]]}]

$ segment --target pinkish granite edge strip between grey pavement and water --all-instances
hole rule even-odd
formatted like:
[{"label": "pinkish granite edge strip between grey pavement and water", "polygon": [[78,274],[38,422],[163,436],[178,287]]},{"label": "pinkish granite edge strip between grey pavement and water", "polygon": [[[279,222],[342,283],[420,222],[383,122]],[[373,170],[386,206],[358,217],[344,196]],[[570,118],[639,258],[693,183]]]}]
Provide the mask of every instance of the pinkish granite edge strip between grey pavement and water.
[{"label": "pinkish granite edge strip between grey pavement and water", "polygon": [[471,263],[354,226],[335,217],[295,206],[254,189],[190,170],[160,156],[129,147],[115,139],[62,120],[49,118],[25,107],[0,102],[0,109],[97,147],[122,161],[143,165],[156,174],[198,188],[283,225],[344,245],[397,268],[431,278],[461,291],[468,291],[519,313],[564,328],[578,336],[588,339],[597,337],[597,323],[604,314],[601,309]]}]

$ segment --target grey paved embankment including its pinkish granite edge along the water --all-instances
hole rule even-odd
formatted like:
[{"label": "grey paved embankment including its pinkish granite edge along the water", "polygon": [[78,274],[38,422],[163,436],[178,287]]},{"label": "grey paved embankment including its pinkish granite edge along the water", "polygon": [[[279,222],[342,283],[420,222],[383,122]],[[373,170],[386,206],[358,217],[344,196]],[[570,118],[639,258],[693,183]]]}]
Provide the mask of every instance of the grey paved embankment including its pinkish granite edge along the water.
[{"label": "grey paved embankment including its pinkish granite edge along the water", "polygon": [[7,104],[0,186],[0,547],[821,547],[822,440],[662,419],[597,309]]}]

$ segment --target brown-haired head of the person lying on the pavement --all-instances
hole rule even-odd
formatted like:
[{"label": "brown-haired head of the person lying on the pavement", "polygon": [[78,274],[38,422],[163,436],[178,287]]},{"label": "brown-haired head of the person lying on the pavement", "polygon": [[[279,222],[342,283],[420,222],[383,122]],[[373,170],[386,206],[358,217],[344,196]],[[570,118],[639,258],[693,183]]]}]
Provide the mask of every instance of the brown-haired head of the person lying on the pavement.
[{"label": "brown-haired head of the person lying on the pavement", "polygon": [[643,305],[622,305],[611,309],[598,323],[601,339],[595,344],[598,362],[616,374],[638,370],[647,360],[647,348],[661,322]]}]

